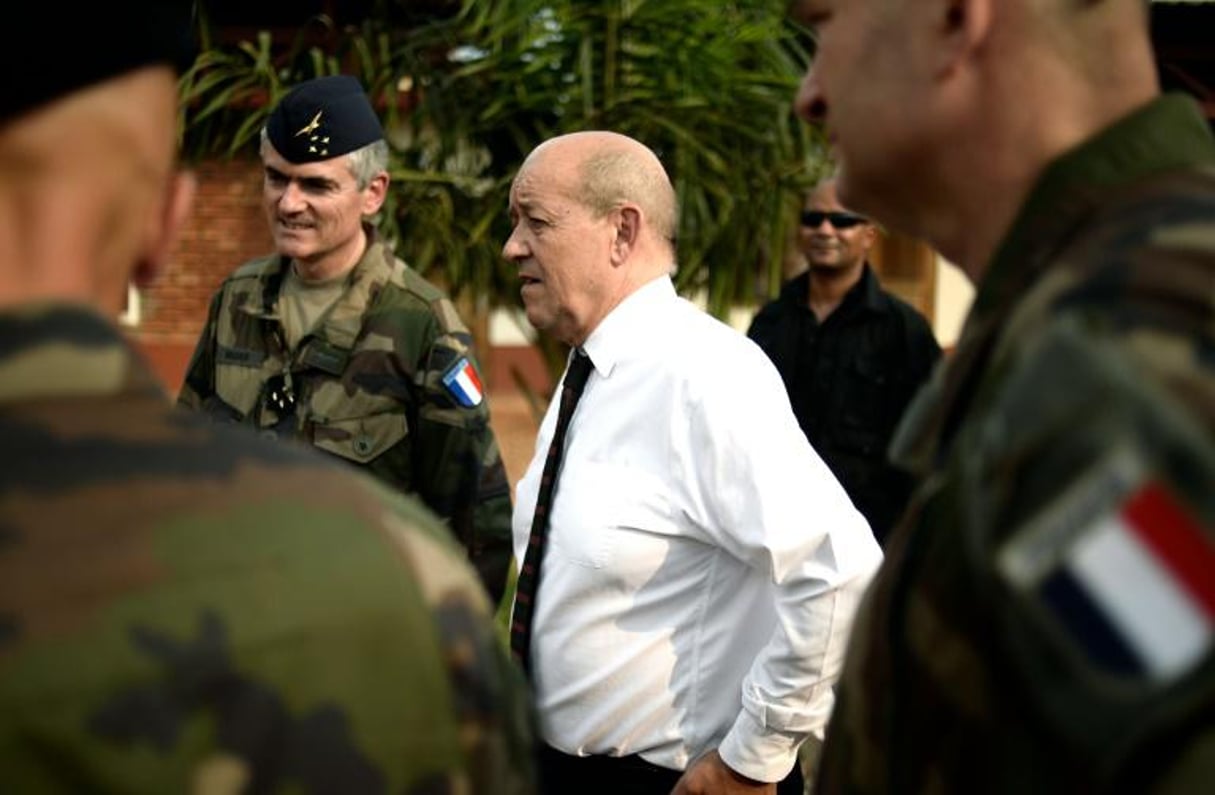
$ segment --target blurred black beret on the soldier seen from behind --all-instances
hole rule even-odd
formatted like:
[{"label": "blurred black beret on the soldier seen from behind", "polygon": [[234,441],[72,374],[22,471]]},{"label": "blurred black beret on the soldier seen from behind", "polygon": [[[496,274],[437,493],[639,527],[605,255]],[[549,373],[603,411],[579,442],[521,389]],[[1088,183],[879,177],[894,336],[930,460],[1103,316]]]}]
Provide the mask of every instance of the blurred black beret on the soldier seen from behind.
[{"label": "blurred black beret on the soldier seen from behind", "polygon": [[197,55],[193,0],[77,4],[10,2],[11,39],[46,34],[47,43],[0,47],[0,122],[135,69],[165,64],[180,74]]}]

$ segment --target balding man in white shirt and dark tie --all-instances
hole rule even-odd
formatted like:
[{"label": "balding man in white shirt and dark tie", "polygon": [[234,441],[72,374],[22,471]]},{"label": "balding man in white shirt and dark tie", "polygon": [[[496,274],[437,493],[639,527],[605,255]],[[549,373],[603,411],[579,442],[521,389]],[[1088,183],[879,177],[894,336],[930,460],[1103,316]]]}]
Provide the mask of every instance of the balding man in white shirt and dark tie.
[{"label": "balding man in white shirt and dark tie", "polygon": [[674,191],[649,148],[546,141],[510,218],[529,321],[593,365],[544,537],[558,401],[514,509],[516,560],[542,551],[513,624],[543,791],[801,793],[798,748],[821,737],[881,559],[869,525],[768,357],[676,294]]}]

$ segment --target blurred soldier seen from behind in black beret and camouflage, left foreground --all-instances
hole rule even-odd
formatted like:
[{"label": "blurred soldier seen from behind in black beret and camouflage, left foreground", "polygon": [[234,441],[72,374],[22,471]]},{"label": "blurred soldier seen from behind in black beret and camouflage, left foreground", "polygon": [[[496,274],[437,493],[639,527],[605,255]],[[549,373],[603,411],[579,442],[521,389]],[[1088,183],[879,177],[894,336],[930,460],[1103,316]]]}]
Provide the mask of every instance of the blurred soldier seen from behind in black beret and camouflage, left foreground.
[{"label": "blurred soldier seen from behind in black beret and camouflage, left foreground", "polygon": [[114,322],[192,198],[188,6],[5,17],[62,49],[0,51],[0,790],[531,793],[524,686],[442,523],[175,410]]}]

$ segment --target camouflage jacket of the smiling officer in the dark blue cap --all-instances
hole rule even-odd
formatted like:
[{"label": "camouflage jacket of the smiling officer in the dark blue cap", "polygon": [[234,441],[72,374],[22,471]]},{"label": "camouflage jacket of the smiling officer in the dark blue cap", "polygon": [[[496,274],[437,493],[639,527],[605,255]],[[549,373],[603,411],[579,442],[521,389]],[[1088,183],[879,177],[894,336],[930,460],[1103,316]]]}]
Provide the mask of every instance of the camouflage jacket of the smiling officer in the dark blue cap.
[{"label": "camouflage jacket of the smiling officer in the dark blue cap", "polygon": [[[510,486],[471,337],[437,288],[368,235],[346,292],[295,350],[277,305],[288,261],[237,269],[211,300],[177,402],[307,441],[418,495],[497,602],[510,565]],[[284,387],[294,410],[275,404]]]}]

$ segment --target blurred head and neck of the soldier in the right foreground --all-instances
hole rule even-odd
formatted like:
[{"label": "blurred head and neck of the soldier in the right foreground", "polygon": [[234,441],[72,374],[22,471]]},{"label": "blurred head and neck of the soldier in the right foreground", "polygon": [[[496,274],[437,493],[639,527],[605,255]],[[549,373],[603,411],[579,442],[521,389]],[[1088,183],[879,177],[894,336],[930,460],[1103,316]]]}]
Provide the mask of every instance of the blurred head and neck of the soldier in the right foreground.
[{"label": "blurred head and neck of the soldier in the right foreground", "polygon": [[813,0],[840,198],[977,277],[1047,163],[1158,92],[1143,0]]}]

